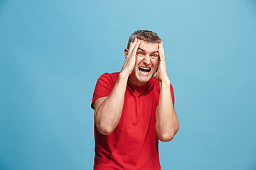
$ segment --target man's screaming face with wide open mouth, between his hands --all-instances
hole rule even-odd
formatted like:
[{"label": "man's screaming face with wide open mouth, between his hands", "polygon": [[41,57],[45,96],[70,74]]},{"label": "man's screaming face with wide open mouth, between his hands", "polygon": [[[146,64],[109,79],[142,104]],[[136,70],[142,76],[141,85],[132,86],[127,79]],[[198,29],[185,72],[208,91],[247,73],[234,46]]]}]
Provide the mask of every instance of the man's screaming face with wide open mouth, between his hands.
[{"label": "man's screaming face with wide open mouth, between his hands", "polygon": [[[129,81],[137,86],[146,86],[159,65],[159,44],[140,40],[137,60]],[[126,52],[127,55],[127,52]]]}]

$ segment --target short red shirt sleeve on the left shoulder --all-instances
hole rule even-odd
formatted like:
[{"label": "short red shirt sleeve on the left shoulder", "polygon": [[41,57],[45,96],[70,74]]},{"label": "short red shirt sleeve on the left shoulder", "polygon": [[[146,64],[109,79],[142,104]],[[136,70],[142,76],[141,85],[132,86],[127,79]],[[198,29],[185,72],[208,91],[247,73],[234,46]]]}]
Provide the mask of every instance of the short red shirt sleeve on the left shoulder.
[{"label": "short red shirt sleeve on the left shoulder", "polygon": [[110,95],[112,91],[114,83],[112,81],[112,77],[109,73],[102,74],[100,78],[97,80],[97,84],[95,86],[95,91],[92,96],[91,108],[93,108],[93,103],[97,100],[97,98],[102,98]]}]

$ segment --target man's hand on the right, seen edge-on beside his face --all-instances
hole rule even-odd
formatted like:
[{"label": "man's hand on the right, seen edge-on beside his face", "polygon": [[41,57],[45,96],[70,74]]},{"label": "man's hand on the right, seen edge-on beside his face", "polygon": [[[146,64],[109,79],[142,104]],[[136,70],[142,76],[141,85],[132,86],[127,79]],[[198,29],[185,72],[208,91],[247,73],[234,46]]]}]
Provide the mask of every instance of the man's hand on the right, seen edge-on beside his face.
[{"label": "man's hand on the right, seen edge-on beside his face", "polygon": [[166,62],[165,62],[165,58],[164,58],[163,42],[159,43],[159,66],[158,66],[158,69],[156,72],[156,79],[159,82],[170,81],[168,74],[167,74]]}]

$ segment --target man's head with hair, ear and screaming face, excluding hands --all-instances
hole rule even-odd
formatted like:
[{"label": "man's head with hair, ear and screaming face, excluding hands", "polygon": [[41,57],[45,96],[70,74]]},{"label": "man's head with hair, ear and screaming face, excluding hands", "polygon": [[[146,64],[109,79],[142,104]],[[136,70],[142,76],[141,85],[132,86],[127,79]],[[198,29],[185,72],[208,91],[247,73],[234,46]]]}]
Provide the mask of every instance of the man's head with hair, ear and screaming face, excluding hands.
[{"label": "man's head with hair, ear and screaming face, excluding hands", "polygon": [[161,38],[149,30],[137,30],[133,33],[128,42],[128,47],[124,50],[124,55],[127,57],[128,48],[135,38],[140,40],[137,50],[136,63],[132,74],[129,76],[129,81],[137,86],[145,86],[147,82],[154,76],[159,65],[159,43]]}]

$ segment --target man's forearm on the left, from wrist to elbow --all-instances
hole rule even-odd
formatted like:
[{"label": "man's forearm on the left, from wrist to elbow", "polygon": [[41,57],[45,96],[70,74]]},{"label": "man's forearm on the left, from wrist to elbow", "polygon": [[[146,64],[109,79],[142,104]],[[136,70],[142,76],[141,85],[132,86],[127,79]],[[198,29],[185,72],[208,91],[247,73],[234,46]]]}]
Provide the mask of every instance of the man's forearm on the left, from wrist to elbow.
[{"label": "man's forearm on the left, from wrist to elbow", "polygon": [[128,76],[120,73],[110,95],[95,110],[95,125],[103,135],[110,135],[119,123],[127,80]]}]

